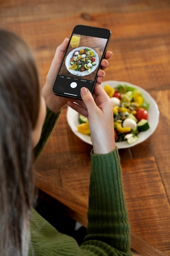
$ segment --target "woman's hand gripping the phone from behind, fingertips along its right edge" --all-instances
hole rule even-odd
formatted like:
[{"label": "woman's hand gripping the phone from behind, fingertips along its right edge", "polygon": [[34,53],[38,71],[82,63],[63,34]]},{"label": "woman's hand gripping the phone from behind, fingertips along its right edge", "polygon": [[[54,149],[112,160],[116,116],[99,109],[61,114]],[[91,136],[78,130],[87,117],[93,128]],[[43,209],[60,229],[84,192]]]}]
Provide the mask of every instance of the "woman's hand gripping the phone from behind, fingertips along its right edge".
[{"label": "woman's hand gripping the phone from behind, fingertips along its right edge", "polygon": [[[51,67],[46,77],[46,83],[42,88],[42,96],[46,101],[46,106],[49,109],[51,109],[54,113],[60,112],[61,108],[68,102],[68,98],[56,96],[52,90],[55,78],[57,76],[57,72],[60,68],[62,58],[64,57],[64,53],[68,45],[68,41],[68,38],[65,38],[62,44],[57,47],[55,56],[51,63]],[[102,83],[102,79],[105,77],[104,70],[108,67],[108,59],[111,56],[112,52],[107,51],[104,56],[104,59],[102,60],[101,69],[97,72],[97,83],[99,84]]]}]

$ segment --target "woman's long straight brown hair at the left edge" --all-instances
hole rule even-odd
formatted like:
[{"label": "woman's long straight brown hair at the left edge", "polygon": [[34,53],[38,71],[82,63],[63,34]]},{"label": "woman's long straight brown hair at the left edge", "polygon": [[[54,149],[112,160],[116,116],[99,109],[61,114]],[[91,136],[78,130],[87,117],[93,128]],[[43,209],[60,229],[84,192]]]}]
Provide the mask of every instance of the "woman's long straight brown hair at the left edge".
[{"label": "woman's long straight brown hair at the left edge", "polygon": [[27,44],[0,30],[0,255],[26,255],[33,203],[31,132],[40,106],[37,67]]}]

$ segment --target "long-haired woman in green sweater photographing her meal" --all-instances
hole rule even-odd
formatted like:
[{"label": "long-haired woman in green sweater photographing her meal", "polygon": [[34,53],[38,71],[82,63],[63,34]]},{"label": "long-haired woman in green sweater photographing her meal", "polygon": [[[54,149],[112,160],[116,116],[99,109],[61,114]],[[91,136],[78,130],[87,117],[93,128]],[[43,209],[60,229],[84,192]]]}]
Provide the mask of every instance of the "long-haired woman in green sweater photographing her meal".
[{"label": "long-haired woman in green sweater photographing her meal", "polygon": [[[0,30],[0,255],[3,256],[131,255],[112,104],[99,85],[105,73],[99,70],[93,97],[86,88],[81,89],[83,101],[77,101],[79,105],[55,96],[52,85],[67,45],[68,38],[57,47],[40,94],[39,75],[29,47],[18,36]],[[105,58],[110,56],[111,52],[107,52]],[[103,68],[108,65],[106,59],[102,61]],[[32,210],[32,149],[36,146],[36,159],[67,101],[88,117],[93,142],[88,229],[80,247]]]}]

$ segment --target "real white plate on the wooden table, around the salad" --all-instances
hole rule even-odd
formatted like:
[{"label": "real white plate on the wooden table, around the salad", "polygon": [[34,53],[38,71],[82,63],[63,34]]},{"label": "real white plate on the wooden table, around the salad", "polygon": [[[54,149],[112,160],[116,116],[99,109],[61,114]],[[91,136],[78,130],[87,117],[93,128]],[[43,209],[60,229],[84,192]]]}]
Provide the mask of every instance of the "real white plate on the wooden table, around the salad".
[{"label": "real white plate on the wooden table, around the salad", "polygon": [[[149,123],[150,128],[145,132],[140,132],[139,139],[133,144],[128,144],[127,141],[116,142],[116,145],[119,149],[120,148],[130,148],[132,146],[135,146],[135,145],[145,141],[156,130],[157,125],[159,123],[159,109],[158,109],[157,103],[150,96],[150,94],[148,92],[146,92],[146,90],[140,88],[137,85],[133,85],[131,83],[121,82],[121,81],[105,81],[101,85],[102,85],[102,87],[104,87],[104,85],[108,84],[108,85],[112,86],[113,88],[115,88],[120,83],[124,83],[124,84],[130,85],[132,87],[138,88],[141,91],[144,99],[148,103],[150,103],[150,107],[148,110],[148,123]],[[78,130],[77,130],[77,126],[79,125],[78,117],[79,117],[79,114],[72,108],[68,107],[67,121],[68,121],[68,125],[70,126],[71,130],[74,132],[75,135],[77,135],[77,137],[82,139],[82,141],[85,141],[86,143],[92,145],[90,136],[84,135],[84,134],[78,132]]]}]

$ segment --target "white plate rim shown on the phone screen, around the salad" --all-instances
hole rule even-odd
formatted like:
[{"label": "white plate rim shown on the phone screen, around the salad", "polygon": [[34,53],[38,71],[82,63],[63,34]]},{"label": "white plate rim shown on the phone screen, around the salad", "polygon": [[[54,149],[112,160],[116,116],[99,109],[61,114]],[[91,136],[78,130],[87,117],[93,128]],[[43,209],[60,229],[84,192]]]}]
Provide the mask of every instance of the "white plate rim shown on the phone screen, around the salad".
[{"label": "white plate rim shown on the phone screen, around the salad", "polygon": [[[73,53],[76,52],[76,51],[79,51],[80,49],[85,49],[85,48],[91,49],[94,52],[94,54],[95,54],[95,63],[96,63],[96,65],[92,66],[91,72],[90,73],[88,71],[80,72],[80,71],[75,71],[75,70],[69,69],[69,67],[71,66],[70,59],[73,56]],[[87,75],[91,74],[93,71],[95,71],[95,69],[97,68],[97,66],[99,64],[99,56],[98,56],[97,52],[95,52],[95,50],[93,50],[92,48],[84,47],[84,46],[77,47],[77,48],[73,49],[71,52],[69,52],[69,54],[66,57],[65,64],[66,64],[67,70],[71,74],[73,74],[74,76],[87,76]]]}]

